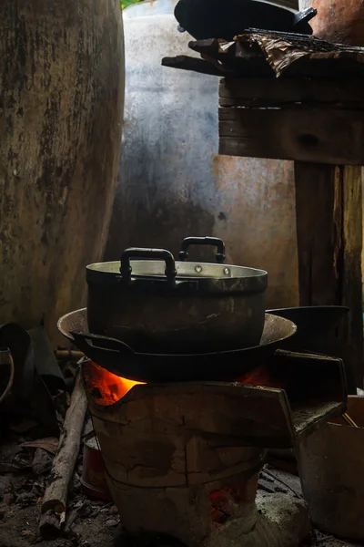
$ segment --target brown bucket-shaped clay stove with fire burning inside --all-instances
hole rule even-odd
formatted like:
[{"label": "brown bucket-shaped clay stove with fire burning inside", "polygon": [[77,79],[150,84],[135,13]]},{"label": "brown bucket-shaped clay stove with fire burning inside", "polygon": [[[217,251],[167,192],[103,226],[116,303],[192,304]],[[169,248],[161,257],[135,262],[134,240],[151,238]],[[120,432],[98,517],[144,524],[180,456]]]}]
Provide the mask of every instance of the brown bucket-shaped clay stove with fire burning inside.
[{"label": "brown bucket-shaped clay stove with fire burning inside", "polygon": [[83,375],[107,480],[127,532],[188,547],[290,547],[305,503],[257,492],[268,448],[293,448],[345,411],[342,361],[276,352],[231,383],[136,384],[86,360]]}]

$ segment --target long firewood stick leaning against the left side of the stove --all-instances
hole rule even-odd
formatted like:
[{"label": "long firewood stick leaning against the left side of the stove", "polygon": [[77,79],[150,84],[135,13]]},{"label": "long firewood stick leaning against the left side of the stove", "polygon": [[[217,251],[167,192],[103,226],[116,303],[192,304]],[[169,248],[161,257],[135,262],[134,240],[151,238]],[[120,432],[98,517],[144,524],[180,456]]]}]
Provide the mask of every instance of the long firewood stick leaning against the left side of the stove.
[{"label": "long firewood stick leaning against the left side of the stove", "polygon": [[[48,535],[50,521],[52,521],[52,526],[59,529],[60,525],[66,519],[67,493],[74,474],[76,459],[80,448],[86,408],[86,393],[82,385],[80,374],[78,374],[71,397],[71,403],[66,412],[56,457],[53,460],[50,482],[45,490],[45,496],[43,498],[42,516],[39,525],[41,534],[46,531],[45,534]],[[51,518],[51,515],[56,517],[58,523],[53,517]]]}]

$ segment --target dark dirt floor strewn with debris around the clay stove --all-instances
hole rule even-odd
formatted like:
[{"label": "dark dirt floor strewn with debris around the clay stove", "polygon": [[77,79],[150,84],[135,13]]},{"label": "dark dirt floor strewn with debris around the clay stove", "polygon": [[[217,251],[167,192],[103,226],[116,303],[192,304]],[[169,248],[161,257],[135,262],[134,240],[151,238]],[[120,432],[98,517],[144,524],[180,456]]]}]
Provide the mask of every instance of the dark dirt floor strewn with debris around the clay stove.
[{"label": "dark dirt floor strewn with debris around the clay stove", "polygon": [[[126,536],[112,503],[86,498],[81,489],[78,471],[70,494],[62,537],[42,540],[38,532],[38,521],[45,480],[46,473],[43,476],[35,475],[29,470],[16,474],[3,473],[0,476],[0,547],[28,547],[38,542],[44,547],[172,547],[172,542],[166,542],[163,538],[146,535],[145,538],[138,537],[137,541],[133,541]],[[285,474],[283,480],[293,490],[299,490],[297,477]],[[267,488],[265,484],[267,485],[263,479],[263,489]],[[174,547],[176,545],[177,542]],[[314,532],[302,547],[315,545],[343,547],[350,543]]]}]

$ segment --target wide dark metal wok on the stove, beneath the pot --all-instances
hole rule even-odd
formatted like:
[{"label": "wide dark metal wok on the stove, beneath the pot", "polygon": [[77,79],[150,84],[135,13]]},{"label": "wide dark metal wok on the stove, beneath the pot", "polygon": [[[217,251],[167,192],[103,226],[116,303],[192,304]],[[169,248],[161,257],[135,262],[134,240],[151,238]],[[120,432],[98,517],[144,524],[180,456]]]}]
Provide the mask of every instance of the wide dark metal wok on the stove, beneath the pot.
[{"label": "wide dark metal wok on the stove, beneath the pot", "polygon": [[137,353],[120,340],[87,333],[86,308],[64,315],[57,325],[97,365],[142,382],[234,380],[261,365],[278,347],[284,347],[297,330],[292,321],[266,314],[260,346],[219,353],[167,355]]}]

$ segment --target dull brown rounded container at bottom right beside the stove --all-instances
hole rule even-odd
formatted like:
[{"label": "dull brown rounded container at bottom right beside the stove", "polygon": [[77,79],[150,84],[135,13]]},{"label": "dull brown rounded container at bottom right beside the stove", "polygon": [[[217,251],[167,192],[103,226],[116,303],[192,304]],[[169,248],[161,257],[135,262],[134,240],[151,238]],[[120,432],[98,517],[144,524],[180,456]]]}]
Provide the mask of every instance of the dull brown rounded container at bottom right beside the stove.
[{"label": "dull brown rounded container at bottom right beside the stove", "polygon": [[360,541],[364,540],[364,397],[348,398],[348,414],[359,428],[343,420],[330,421],[302,439],[298,469],[312,521],[324,532]]}]

